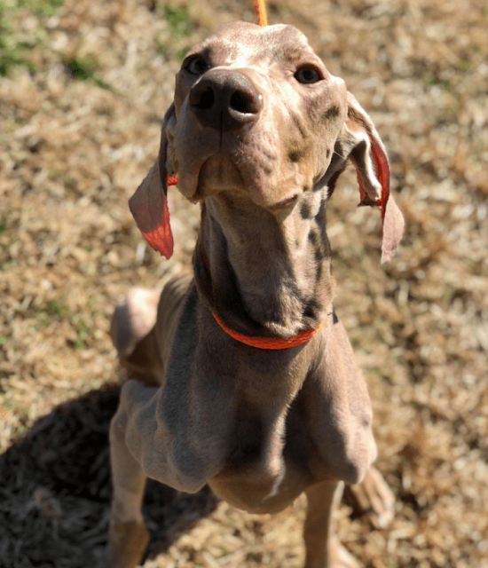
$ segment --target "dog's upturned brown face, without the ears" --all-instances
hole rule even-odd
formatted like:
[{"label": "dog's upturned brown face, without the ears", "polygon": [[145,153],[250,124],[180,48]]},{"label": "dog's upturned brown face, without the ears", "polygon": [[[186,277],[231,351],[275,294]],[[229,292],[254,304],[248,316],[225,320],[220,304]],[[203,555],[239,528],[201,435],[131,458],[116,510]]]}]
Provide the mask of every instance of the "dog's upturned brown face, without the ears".
[{"label": "dog's upturned brown face, without the ears", "polygon": [[347,91],[297,29],[233,22],[185,57],[174,105],[166,164],[180,191],[241,192],[274,209],[326,173]]}]

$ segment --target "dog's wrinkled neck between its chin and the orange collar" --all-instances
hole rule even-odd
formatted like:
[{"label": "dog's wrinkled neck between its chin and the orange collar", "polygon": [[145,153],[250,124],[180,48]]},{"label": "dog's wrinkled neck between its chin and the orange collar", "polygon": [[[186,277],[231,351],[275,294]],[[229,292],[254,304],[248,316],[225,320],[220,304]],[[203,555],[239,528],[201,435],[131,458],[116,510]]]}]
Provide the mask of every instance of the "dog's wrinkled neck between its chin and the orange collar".
[{"label": "dog's wrinkled neck between its chin and the orange collar", "polygon": [[195,280],[227,327],[243,335],[291,337],[326,319],[334,280],[325,209],[326,202],[312,195],[280,213],[230,192],[204,201]]}]

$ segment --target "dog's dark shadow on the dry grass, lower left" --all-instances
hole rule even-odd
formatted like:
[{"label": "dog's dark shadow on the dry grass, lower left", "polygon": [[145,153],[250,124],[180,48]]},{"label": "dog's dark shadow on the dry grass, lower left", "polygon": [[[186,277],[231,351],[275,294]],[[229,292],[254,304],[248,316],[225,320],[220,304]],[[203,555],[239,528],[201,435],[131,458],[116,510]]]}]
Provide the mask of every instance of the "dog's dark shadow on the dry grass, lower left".
[{"label": "dog's dark shadow on the dry grass, lower left", "polygon": [[[0,455],[1,566],[99,564],[112,493],[108,426],[119,392],[107,385],[58,406]],[[208,487],[188,495],[149,480],[147,556],[167,549],[216,503]]]}]

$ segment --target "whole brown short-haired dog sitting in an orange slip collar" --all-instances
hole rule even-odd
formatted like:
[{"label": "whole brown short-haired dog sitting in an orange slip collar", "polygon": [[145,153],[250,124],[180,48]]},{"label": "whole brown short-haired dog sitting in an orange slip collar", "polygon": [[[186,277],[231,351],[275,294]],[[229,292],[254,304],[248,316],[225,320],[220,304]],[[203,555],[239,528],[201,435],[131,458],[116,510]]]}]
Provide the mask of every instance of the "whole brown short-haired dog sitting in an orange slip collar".
[{"label": "whole brown short-haired dog sitting in an orange slip collar", "polygon": [[270,513],[305,492],[307,568],[357,565],[333,530],[342,482],[384,517],[366,383],[333,310],[327,199],[347,160],[361,202],[382,208],[382,260],[403,217],[373,123],[290,26],[235,22],[186,56],[158,162],[130,200],[166,256],[166,179],[201,202],[193,278],[161,298],[134,289],[113,336],[128,367],[110,430],[114,500],[108,565],[138,564],[148,541],[146,477],[193,493],[209,484]]}]

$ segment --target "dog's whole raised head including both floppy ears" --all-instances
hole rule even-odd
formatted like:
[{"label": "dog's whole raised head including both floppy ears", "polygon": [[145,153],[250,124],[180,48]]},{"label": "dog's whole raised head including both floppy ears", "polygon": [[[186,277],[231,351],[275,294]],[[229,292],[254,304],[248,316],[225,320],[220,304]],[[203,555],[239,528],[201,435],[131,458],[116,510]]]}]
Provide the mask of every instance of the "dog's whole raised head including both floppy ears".
[{"label": "dog's whole raised head including both floppy ears", "polygon": [[159,160],[130,210],[147,241],[169,257],[168,175],[178,175],[191,201],[231,191],[282,212],[306,193],[332,191],[348,159],[361,204],[382,208],[384,262],[404,220],[373,122],[296,28],[232,22],[185,57]]}]

